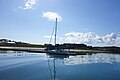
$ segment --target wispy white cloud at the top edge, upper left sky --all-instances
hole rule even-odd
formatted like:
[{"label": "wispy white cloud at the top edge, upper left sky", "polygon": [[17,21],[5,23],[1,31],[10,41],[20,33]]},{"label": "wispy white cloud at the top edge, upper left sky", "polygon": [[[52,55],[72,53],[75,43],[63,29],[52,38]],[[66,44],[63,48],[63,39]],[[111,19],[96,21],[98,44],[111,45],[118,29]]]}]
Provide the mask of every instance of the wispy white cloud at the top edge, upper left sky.
[{"label": "wispy white cloud at the top edge, upper left sky", "polygon": [[18,8],[21,8],[21,9],[33,9],[33,6],[35,6],[37,4],[38,0],[27,0],[26,3],[25,3],[25,7],[21,7],[19,6]]}]

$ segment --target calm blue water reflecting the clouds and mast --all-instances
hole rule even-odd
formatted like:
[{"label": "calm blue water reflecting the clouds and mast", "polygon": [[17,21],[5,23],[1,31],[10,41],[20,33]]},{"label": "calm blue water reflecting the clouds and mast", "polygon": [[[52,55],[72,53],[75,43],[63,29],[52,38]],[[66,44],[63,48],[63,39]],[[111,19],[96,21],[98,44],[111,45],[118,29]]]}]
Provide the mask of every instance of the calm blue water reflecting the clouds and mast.
[{"label": "calm blue water reflecting the clouds and mast", "polygon": [[0,80],[120,80],[120,55],[0,53]]}]

